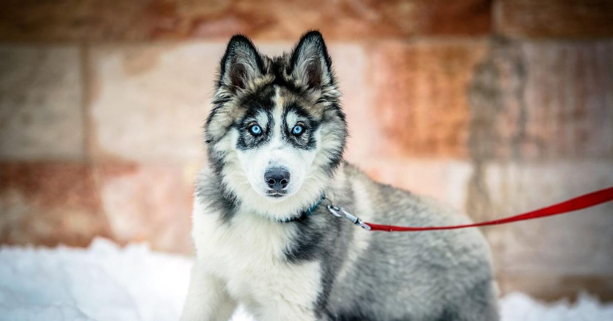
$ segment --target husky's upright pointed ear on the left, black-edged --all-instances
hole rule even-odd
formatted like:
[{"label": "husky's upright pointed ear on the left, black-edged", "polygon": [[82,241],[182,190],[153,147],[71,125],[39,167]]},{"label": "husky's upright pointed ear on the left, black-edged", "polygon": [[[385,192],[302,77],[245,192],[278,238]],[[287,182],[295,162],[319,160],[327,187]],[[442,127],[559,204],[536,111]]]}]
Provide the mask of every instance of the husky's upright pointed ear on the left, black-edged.
[{"label": "husky's upright pointed ear on the left, black-edged", "polygon": [[262,75],[263,69],[262,58],[253,42],[237,34],[230,39],[221,58],[219,87],[226,86],[232,91],[245,89],[251,80]]}]

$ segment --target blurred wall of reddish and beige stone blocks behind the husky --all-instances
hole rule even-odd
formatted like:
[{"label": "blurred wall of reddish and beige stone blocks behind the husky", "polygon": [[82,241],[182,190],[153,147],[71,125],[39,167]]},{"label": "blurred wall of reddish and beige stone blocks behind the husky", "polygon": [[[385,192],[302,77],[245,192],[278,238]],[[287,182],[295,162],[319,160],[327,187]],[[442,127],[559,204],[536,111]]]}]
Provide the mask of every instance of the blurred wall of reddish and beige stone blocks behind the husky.
[{"label": "blurred wall of reddish and beige stone blocks behind the husky", "polygon": [[[474,220],[613,185],[613,1],[4,0],[0,244],[192,253],[227,39],[320,29],[346,158]],[[482,228],[501,292],[613,300],[613,203]]]}]

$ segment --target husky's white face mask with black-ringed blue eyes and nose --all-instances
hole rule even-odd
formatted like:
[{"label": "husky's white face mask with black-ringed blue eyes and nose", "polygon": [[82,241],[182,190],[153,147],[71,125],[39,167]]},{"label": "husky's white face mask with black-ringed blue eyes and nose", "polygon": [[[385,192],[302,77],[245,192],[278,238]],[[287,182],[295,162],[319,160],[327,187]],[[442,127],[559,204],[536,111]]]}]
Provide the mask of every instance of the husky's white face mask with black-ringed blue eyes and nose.
[{"label": "husky's white face mask with black-ringed blue eyes and nose", "polygon": [[[318,123],[278,85],[259,91],[237,121],[236,153],[251,187],[280,200],[294,195],[310,174],[316,155]],[[262,106],[261,103],[265,105]]]}]

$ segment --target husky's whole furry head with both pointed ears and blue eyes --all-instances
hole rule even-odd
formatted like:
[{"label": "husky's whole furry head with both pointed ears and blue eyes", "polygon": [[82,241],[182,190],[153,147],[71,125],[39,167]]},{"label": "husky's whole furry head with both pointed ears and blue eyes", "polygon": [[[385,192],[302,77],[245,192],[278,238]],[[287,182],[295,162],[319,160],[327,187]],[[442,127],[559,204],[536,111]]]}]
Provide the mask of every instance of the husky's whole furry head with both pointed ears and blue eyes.
[{"label": "husky's whole furry head with both pointed ears and blue eyes", "polygon": [[319,32],[273,58],[232,37],[205,126],[226,195],[276,219],[317,201],[345,149],[339,98]]}]

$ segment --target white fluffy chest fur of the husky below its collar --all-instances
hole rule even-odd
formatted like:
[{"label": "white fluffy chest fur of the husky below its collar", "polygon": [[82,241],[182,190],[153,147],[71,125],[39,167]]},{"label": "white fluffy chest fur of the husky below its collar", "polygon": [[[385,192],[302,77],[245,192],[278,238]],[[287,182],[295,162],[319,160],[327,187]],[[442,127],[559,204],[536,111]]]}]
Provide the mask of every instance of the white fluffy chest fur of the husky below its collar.
[{"label": "white fluffy chest fur of the husky below its collar", "polygon": [[284,250],[295,226],[238,212],[222,223],[218,213],[194,202],[192,236],[197,260],[207,273],[221,279],[227,293],[262,319],[314,318],[313,304],[320,291],[319,262],[291,263]]}]

